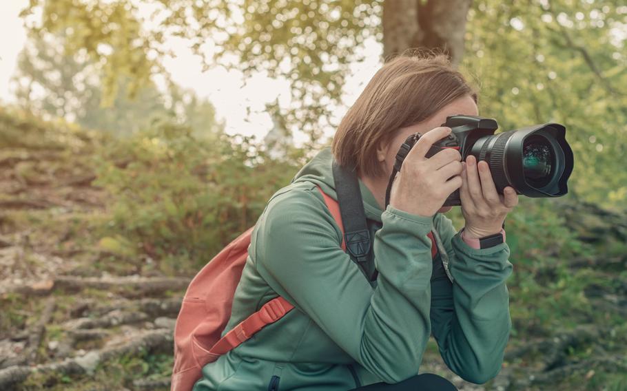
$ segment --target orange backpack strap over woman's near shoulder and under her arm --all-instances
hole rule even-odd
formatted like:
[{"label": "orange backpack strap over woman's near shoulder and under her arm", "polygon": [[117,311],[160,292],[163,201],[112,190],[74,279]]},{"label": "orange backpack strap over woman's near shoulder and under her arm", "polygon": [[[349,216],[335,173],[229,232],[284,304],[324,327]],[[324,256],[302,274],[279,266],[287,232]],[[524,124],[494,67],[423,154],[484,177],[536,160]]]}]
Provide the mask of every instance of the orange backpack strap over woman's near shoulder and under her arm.
[{"label": "orange backpack strap over woman's near shoulder and under her arm", "polygon": [[[333,219],[335,219],[338,226],[340,226],[340,231],[342,231],[342,250],[346,251],[344,225],[342,224],[342,216],[340,215],[340,205],[336,200],[333,200],[327,193],[322,191],[320,186],[318,186],[318,190],[322,193],[322,198],[325,199],[325,204],[327,204],[327,208],[329,208],[331,215],[333,215]],[[241,321],[232,330],[229,330],[224,337],[220,338],[220,340],[212,346],[208,354],[216,358],[225,355],[229,350],[236,348],[265,326],[273,324],[275,321],[278,321],[278,319],[284,317],[292,309],[294,309],[294,306],[283,297],[279,296],[271,299],[256,313]]]}]

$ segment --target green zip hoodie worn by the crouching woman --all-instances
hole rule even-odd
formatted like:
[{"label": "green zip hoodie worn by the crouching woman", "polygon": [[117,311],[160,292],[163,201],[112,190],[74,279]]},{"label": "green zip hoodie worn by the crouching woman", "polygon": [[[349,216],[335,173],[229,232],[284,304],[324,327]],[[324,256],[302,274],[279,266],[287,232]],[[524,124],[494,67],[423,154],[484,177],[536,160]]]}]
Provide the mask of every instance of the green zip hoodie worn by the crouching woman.
[{"label": "green zip hoodie worn by the crouching woman", "polygon": [[[495,377],[511,328],[507,244],[473,249],[441,213],[382,211],[360,181],[379,271],[373,288],[340,248],[340,229],[316,189],[336,199],[331,161],[327,147],[267,203],[223,334],[278,295],[296,308],[207,364],[194,391],[397,383],[418,374],[432,333],[462,379]],[[435,260],[432,229],[442,255]]]}]

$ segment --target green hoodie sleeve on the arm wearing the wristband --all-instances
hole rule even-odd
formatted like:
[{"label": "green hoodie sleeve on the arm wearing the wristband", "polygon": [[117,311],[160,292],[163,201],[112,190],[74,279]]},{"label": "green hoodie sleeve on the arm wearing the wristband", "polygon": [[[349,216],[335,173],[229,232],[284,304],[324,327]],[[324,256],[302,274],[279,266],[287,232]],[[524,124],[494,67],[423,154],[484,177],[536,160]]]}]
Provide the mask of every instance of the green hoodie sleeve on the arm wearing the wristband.
[{"label": "green hoodie sleeve on the arm wearing the wristband", "polygon": [[506,279],[513,266],[506,243],[473,249],[449,218],[435,226],[449,254],[453,283],[446,275],[431,282],[431,326],[442,359],[462,379],[485,383],[501,369],[511,329]]}]

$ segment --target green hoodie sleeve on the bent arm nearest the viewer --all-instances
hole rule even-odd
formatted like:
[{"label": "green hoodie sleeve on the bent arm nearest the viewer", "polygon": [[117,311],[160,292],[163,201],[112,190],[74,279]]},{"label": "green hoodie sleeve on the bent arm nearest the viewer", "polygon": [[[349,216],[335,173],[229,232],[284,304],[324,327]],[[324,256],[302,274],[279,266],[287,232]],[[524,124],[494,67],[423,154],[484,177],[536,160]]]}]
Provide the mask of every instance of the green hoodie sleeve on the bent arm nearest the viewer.
[{"label": "green hoodie sleeve on the bent arm nearest the viewer", "polygon": [[254,262],[277,293],[307,313],[382,381],[418,374],[431,335],[433,220],[393,207],[373,237],[378,284],[340,248],[340,231],[315,187],[269,202],[258,222]]}]

